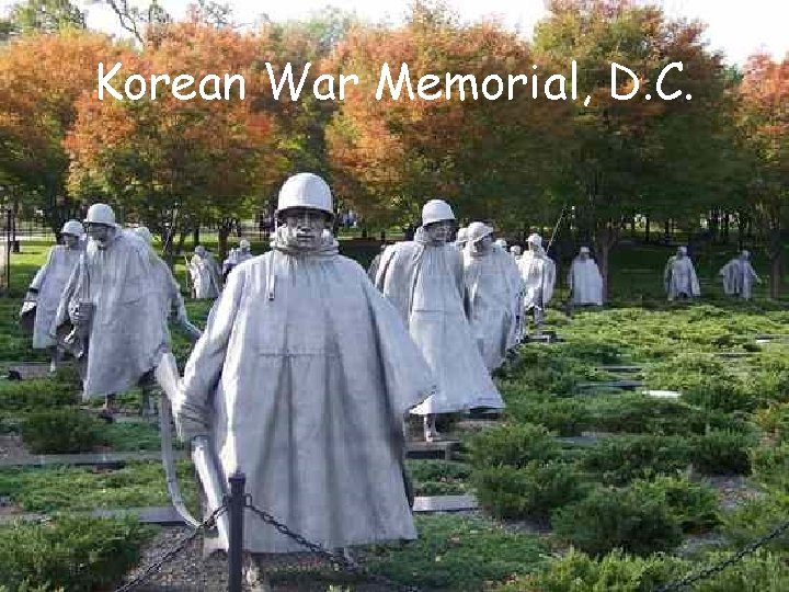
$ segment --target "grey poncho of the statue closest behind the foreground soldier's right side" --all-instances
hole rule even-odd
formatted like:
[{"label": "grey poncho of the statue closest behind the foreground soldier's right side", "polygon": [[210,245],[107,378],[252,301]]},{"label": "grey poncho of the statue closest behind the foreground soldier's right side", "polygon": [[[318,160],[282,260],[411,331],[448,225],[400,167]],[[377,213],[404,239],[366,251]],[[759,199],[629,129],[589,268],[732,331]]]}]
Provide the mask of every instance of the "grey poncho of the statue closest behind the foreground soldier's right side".
[{"label": "grey poncho of the statue closest behind the foreground soldier's right side", "polygon": [[468,321],[462,254],[451,243],[427,242],[423,227],[414,238],[389,247],[376,276],[376,286],[407,322],[438,386],[413,413],[503,409]]}]

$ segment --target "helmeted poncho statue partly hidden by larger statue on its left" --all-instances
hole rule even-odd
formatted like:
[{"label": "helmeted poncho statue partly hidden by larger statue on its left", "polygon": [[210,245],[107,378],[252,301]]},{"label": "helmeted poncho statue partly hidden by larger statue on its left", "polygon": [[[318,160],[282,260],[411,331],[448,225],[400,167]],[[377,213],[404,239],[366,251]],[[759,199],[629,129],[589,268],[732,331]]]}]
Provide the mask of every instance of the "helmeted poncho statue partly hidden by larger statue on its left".
[{"label": "helmeted poncho statue partly hidden by larger statue on its left", "polygon": [[471,223],[464,251],[471,330],[489,371],[501,366],[507,351],[517,344],[523,315],[517,263],[499,242],[491,242],[492,232],[485,224]]}]

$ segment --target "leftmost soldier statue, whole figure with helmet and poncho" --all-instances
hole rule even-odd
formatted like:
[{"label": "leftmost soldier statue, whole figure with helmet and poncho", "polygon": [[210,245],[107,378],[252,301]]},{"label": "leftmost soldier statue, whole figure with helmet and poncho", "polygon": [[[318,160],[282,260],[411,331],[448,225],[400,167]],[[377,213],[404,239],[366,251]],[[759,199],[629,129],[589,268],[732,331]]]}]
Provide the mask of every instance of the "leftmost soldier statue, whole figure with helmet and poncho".
[{"label": "leftmost soldier statue, whole figure with helmet and poncho", "polygon": [[69,220],[60,230],[62,244],[49,249],[47,260],[35,274],[25,295],[20,316],[31,317],[33,349],[49,350],[49,372],[57,371],[65,353],[62,343],[54,335],[53,322],[60,296],[84,250],[84,228],[78,220]]}]

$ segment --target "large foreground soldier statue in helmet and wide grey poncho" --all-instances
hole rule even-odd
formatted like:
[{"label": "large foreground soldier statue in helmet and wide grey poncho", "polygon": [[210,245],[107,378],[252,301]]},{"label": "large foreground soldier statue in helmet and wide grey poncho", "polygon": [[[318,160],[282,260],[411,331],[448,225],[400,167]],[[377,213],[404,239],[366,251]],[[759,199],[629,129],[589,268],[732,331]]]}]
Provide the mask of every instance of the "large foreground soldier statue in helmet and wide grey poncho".
[{"label": "large foreground soldier statue in helmet and wide grey poncho", "polygon": [[[272,251],[228,277],[186,364],[176,421],[208,418],[225,476],[243,471],[252,503],[309,540],[413,539],[402,421],[433,378],[365,271],[321,238],[316,221],[331,212],[321,178],[283,185],[285,225]],[[304,550],[252,512],[244,520],[245,550]]]}]

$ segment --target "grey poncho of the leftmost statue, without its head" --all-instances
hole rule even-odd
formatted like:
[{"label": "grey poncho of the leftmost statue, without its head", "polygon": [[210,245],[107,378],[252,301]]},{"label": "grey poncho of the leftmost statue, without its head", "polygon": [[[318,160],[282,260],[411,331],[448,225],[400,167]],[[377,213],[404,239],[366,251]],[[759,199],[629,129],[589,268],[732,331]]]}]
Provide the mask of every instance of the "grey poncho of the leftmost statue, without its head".
[{"label": "grey poncho of the leftmost statue, without its head", "polygon": [[64,244],[56,244],[49,249],[46,263],[38,270],[31,283],[30,287],[38,291],[33,325],[33,349],[35,350],[52,348],[57,343],[53,337],[53,323],[66,284],[79,261],[82,244],[80,242],[72,249]]}]

